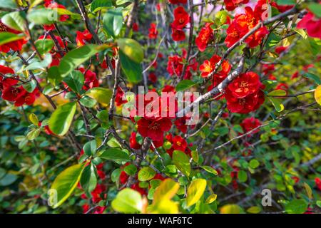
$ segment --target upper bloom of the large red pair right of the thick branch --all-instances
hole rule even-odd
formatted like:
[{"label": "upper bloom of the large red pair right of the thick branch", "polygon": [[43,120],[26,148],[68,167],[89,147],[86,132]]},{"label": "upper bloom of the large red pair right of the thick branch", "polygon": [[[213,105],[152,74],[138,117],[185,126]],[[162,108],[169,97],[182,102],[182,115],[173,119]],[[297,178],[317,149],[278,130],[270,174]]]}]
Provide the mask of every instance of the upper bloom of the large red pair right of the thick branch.
[{"label": "upper bloom of the large red pair right of the thick branch", "polygon": [[260,77],[254,72],[243,73],[236,78],[228,89],[235,98],[245,98],[256,93],[261,86]]}]

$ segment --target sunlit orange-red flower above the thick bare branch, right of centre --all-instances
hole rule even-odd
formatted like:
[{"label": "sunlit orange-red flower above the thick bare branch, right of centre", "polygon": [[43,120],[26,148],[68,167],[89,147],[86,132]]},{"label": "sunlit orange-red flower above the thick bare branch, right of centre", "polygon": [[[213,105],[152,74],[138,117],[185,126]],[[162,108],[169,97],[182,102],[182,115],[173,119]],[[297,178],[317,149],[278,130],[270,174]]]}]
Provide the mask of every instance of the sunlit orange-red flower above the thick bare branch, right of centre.
[{"label": "sunlit orange-red flower above the thick bare branch, right of centre", "polygon": [[[202,72],[201,76],[203,78],[208,77],[208,75],[212,73],[212,71],[214,71],[216,63],[218,63],[220,60],[221,60],[221,57],[217,55],[212,56],[212,58],[210,58],[209,61],[205,60],[204,63],[200,65],[200,71]],[[231,68],[228,61],[223,61],[221,68],[222,69],[217,73],[215,73],[214,76],[218,78],[226,78]]]}]

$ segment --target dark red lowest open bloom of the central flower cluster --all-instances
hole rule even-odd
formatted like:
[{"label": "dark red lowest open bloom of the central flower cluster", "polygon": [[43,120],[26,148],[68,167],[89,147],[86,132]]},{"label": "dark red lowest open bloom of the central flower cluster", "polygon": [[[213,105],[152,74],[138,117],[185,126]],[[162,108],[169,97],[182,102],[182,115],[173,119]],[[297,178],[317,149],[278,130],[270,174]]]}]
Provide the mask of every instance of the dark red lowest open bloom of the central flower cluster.
[{"label": "dark red lowest open bloom of the central flower cluster", "polygon": [[172,122],[169,118],[147,119],[141,118],[137,122],[138,133],[143,137],[149,137],[151,140],[162,140],[164,133],[170,130]]}]

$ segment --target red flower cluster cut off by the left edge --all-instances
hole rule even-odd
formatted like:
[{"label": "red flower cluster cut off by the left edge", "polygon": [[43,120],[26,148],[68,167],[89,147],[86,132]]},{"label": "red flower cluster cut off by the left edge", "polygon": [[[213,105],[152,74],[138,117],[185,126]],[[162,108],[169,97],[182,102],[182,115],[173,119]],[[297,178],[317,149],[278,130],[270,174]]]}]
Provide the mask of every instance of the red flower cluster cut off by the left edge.
[{"label": "red flower cluster cut off by the left edge", "polygon": [[14,102],[15,106],[32,105],[39,96],[39,90],[34,89],[29,93],[23,86],[19,86],[19,81],[15,78],[6,78],[6,74],[14,74],[14,70],[6,66],[0,65],[0,91],[2,92],[1,98]]}]

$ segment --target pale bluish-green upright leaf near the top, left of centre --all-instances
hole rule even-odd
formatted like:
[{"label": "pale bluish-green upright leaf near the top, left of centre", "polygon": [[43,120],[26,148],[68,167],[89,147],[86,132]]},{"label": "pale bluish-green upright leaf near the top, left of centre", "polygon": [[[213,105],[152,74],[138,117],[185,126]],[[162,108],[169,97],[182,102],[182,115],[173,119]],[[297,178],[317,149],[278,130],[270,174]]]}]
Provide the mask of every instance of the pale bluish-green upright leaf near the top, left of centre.
[{"label": "pale bluish-green upright leaf near the top, left of centre", "polygon": [[123,13],[119,9],[109,9],[103,16],[103,28],[108,35],[116,37],[123,26]]}]

